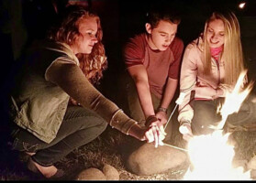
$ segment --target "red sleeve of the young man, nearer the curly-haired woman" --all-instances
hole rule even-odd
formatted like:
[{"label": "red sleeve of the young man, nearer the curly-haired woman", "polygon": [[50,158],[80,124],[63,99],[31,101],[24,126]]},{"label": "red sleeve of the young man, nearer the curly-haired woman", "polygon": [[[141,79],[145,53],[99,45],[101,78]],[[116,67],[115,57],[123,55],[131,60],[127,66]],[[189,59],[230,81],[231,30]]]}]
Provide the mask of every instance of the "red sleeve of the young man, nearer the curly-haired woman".
[{"label": "red sleeve of the young man, nearer the curly-haired woman", "polygon": [[124,48],[124,59],[127,67],[143,64],[145,55],[144,34],[129,38]]}]

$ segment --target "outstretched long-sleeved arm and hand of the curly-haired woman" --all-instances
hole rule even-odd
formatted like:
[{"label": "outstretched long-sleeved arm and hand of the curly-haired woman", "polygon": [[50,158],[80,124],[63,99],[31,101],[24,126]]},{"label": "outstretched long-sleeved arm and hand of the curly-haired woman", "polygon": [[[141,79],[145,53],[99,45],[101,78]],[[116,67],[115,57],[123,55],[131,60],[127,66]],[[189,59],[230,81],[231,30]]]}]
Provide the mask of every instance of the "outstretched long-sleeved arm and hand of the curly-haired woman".
[{"label": "outstretched long-sleeved arm and hand of the curly-haired woman", "polygon": [[137,122],[123,113],[114,102],[98,92],[77,65],[55,61],[46,71],[46,79],[59,85],[75,101],[80,102],[83,107],[94,110],[122,133],[132,135],[139,140],[159,143],[158,136],[151,135],[151,128],[141,129]]}]

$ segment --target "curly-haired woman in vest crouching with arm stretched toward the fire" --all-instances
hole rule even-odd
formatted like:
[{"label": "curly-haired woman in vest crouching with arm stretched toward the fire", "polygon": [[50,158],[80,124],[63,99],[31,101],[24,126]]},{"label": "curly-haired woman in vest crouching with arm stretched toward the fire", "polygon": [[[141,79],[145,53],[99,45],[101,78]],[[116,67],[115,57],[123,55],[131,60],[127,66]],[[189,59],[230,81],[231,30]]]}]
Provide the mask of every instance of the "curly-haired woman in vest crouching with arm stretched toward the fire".
[{"label": "curly-haired woman in vest crouching with arm stretched toward the fire", "polygon": [[[101,40],[99,17],[69,6],[49,38],[29,50],[17,74],[9,111],[13,148],[28,153],[28,169],[45,178],[61,178],[54,163],[93,141],[107,124],[156,145],[164,138],[159,124],[140,128],[92,85],[96,65],[106,61]],[[86,73],[79,59],[91,61]]]}]

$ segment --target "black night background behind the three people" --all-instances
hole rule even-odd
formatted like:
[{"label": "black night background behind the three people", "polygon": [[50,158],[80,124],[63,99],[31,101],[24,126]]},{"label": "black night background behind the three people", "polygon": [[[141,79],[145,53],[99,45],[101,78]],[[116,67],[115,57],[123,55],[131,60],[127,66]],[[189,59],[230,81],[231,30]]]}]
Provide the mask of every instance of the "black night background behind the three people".
[{"label": "black night background behind the three people", "polygon": [[[0,1],[0,156],[6,154],[7,118],[6,98],[11,81],[9,76],[19,64],[18,58],[34,40],[43,38],[45,31],[53,23],[56,13],[52,2],[58,2],[60,11],[66,0],[1,0]],[[239,9],[240,0],[85,0],[101,17],[103,43],[106,47],[108,69],[101,84],[97,86],[108,99],[128,113],[126,70],[122,59],[122,48],[129,37],[145,30],[145,16],[154,6],[177,8],[182,15],[177,36],[184,40],[184,46],[197,38],[203,31],[206,17],[215,8],[229,8],[239,18],[241,40],[249,78],[256,77],[256,0],[244,0],[247,4]],[[4,156],[5,158],[5,156]],[[3,164],[2,164],[3,165]]]}]

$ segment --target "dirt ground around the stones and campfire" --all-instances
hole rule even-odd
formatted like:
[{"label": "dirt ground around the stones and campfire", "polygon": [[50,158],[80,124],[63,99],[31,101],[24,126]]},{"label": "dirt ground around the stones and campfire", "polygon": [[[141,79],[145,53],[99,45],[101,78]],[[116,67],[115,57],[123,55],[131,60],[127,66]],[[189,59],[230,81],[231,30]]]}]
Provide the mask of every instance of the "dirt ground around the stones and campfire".
[{"label": "dirt ground around the stones and campfire", "polygon": [[[256,155],[256,133],[234,132],[231,135],[237,143],[234,159],[250,160]],[[169,169],[161,174],[150,176],[137,176],[128,172],[124,164],[122,153],[129,148],[129,143],[135,142],[132,137],[123,135],[117,130],[107,127],[106,131],[93,142],[83,145],[72,151],[68,156],[61,159],[56,165],[65,171],[63,180],[74,180],[83,169],[96,167],[101,169],[108,164],[117,168],[120,180],[182,180],[190,166],[188,162],[180,167]],[[185,147],[182,135],[178,133],[177,125],[173,125],[173,134],[169,144]],[[23,162],[13,162],[14,167],[2,167],[0,170],[1,180],[42,180],[44,178],[31,174]]]}]

